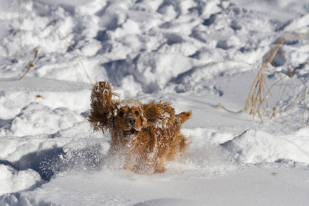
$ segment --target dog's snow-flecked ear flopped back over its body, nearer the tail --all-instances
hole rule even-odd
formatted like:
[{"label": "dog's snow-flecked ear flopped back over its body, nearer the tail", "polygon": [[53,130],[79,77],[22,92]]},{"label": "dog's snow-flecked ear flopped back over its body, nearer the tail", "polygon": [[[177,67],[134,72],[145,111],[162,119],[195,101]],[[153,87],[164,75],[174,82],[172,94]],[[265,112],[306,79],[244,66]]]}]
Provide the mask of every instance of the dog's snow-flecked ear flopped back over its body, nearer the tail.
[{"label": "dog's snow-flecked ear flopped back over its body, nearer the tail", "polygon": [[143,104],[144,117],[146,119],[146,126],[155,126],[164,128],[172,126],[175,120],[175,111],[170,102],[150,102]]}]

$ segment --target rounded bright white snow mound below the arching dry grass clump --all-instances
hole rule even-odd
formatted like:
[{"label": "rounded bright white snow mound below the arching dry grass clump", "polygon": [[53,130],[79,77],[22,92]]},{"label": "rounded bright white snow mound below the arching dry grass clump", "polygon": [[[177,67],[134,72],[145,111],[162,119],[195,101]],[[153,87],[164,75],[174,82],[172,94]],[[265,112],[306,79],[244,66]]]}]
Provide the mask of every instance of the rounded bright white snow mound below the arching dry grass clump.
[{"label": "rounded bright white snow mound below the arching dry grass clump", "polygon": [[[306,140],[307,139],[307,140]],[[303,141],[308,141],[308,138]],[[309,164],[309,152],[288,139],[261,130],[249,129],[222,144],[236,161],[245,163],[274,162],[293,159]]]}]

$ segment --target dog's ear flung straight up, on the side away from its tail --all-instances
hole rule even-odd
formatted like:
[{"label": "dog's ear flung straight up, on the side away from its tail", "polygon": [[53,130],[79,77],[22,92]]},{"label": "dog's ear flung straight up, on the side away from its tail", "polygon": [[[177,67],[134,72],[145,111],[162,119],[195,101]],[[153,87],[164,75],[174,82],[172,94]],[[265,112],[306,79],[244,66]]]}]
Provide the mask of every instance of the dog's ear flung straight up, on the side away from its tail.
[{"label": "dog's ear flung straight up, on the side away from its tail", "polygon": [[91,109],[88,116],[93,130],[102,129],[104,133],[112,126],[113,109],[115,100],[113,100],[113,85],[108,81],[96,82],[91,91]]}]

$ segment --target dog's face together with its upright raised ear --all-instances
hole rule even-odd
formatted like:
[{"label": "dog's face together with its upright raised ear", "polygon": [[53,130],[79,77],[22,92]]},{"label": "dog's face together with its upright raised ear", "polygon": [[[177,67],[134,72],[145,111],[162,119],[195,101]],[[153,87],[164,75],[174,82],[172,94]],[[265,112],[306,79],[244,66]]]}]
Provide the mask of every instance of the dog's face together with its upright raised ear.
[{"label": "dog's face together with its upright raised ear", "polygon": [[94,130],[113,131],[124,137],[138,135],[146,125],[142,104],[136,100],[119,100],[109,82],[97,82],[91,93],[88,120]]}]

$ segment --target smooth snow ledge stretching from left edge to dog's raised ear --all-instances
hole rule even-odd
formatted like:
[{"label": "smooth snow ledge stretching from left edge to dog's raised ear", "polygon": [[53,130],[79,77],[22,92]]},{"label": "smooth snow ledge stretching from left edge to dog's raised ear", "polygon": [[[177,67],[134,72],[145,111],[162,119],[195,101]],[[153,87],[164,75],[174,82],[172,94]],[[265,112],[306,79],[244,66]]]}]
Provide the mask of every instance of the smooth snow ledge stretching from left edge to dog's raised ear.
[{"label": "smooth snow ledge stretching from left edge to dog's raised ear", "polygon": [[80,114],[89,109],[90,93],[91,85],[78,82],[31,77],[21,81],[0,79],[0,118],[12,119],[32,102]]}]

